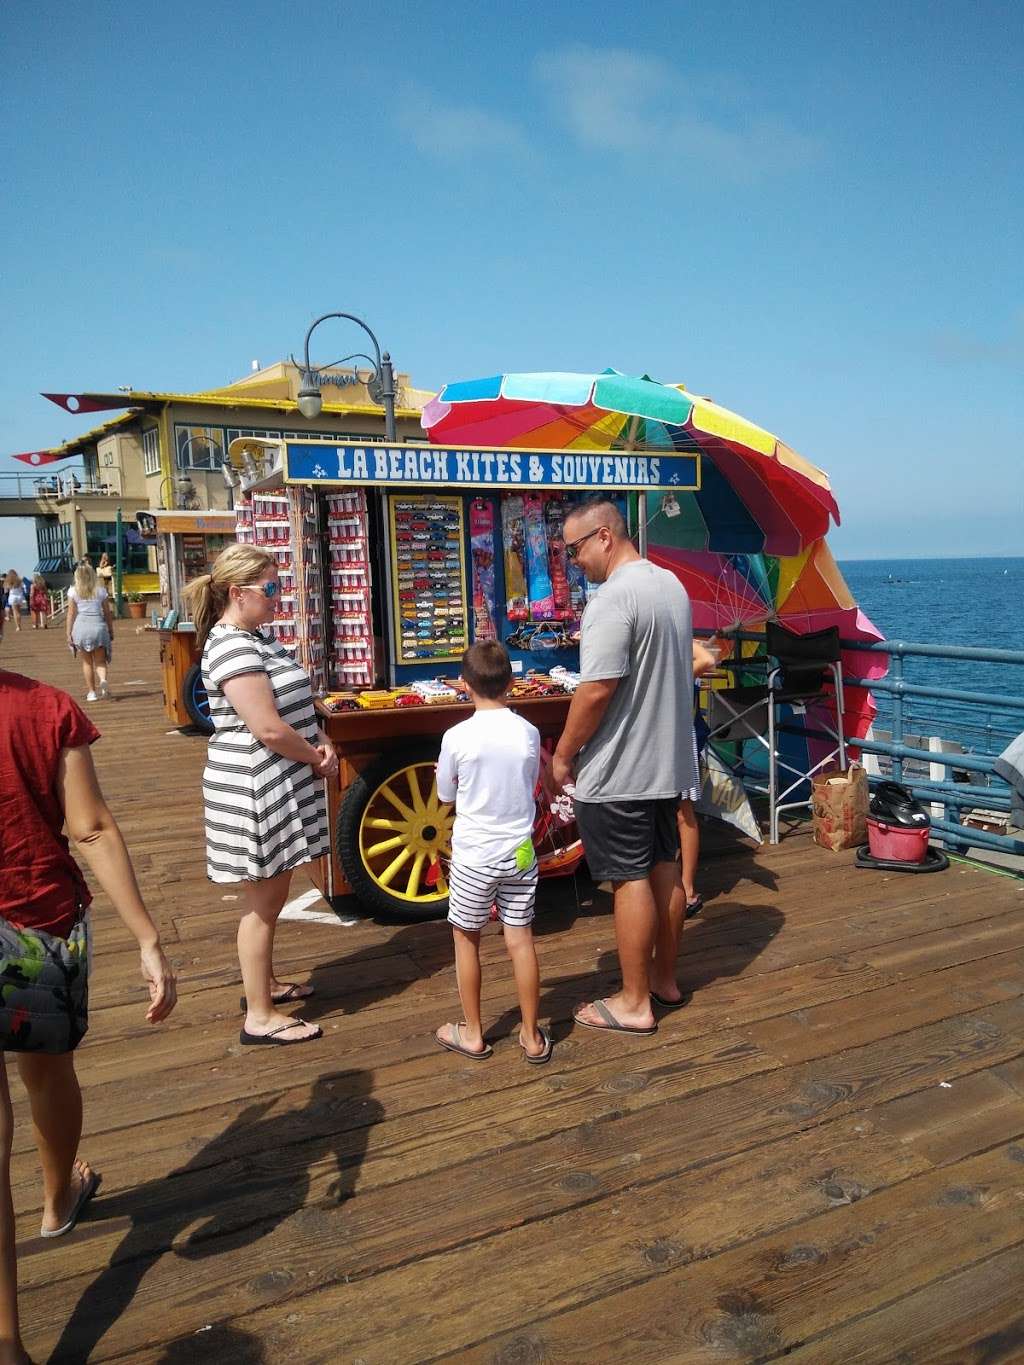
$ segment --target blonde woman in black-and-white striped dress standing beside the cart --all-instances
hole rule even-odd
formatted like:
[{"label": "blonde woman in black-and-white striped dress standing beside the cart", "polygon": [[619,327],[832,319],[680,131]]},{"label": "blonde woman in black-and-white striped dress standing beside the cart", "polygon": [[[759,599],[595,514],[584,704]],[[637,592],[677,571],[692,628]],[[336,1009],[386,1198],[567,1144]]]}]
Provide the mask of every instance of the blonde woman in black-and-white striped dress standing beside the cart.
[{"label": "blonde woman in black-and-white striped dress standing beside the cart", "polygon": [[337,773],[337,756],[317,725],[306,672],[261,632],[279,598],[273,557],[231,545],[184,598],[213,721],[202,779],[206,875],[244,886],[242,1041],[309,1043],[321,1029],[279,1009],[313,992],[277,980],[274,930],[295,868],[329,850],[324,778]]}]

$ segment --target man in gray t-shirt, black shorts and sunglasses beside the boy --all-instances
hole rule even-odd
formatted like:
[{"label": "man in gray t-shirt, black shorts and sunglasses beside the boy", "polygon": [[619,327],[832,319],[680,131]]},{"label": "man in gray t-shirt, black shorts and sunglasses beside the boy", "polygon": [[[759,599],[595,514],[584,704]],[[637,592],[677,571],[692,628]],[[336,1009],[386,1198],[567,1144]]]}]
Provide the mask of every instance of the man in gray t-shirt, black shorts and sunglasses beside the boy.
[{"label": "man in gray t-shirt, black shorts and sunglasses beside the boy", "polygon": [[610,880],[623,988],[575,1014],[586,1028],[654,1033],[658,1002],[685,1003],[676,957],[685,915],[680,794],[696,794],[694,643],[679,579],[642,558],[621,513],[590,498],[565,519],[565,550],[601,591],[583,613],[580,685],[552,762],[576,770],[576,823],[594,880]]}]

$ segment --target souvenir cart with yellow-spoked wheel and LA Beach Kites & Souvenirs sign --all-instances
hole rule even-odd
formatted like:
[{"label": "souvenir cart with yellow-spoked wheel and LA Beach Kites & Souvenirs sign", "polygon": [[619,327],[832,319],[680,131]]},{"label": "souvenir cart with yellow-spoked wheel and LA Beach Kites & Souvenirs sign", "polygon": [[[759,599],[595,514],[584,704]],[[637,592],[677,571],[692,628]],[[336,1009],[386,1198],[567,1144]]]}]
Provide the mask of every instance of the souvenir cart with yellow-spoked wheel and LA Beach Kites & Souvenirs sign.
[{"label": "souvenir cart with yellow-spoked wheel and LA Beach Kites & Souvenirs sign", "polygon": [[[568,512],[606,491],[642,538],[643,491],[694,487],[698,460],[250,438],[229,455],[243,487],[238,538],[279,561],[273,629],[309,670],[341,759],[315,880],[371,910],[442,915],[453,808],[437,797],[434,763],[444,732],[470,714],[453,681],[463,651],[507,646],[513,707],[550,752],[587,595],[565,554]],[[538,800],[534,844],[541,875],[576,867],[571,804]]]}]

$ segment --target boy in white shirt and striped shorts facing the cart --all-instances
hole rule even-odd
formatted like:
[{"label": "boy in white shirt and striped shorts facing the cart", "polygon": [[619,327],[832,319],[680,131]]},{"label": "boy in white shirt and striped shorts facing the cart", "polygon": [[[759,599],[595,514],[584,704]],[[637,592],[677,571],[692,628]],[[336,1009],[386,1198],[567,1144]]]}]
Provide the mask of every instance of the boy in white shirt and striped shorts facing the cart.
[{"label": "boy in white shirt and striped shorts facing the cart", "polygon": [[538,875],[531,834],[541,736],[537,726],[509,711],[505,693],[511,681],[512,665],[502,644],[481,640],[470,646],[463,655],[461,685],[472,699],[474,715],[445,732],[437,760],[437,794],[455,801],[448,921],[466,1018],[442,1024],[434,1041],[474,1061],[493,1052],[481,1026],[481,930],[497,905],[523,1016],[519,1046],[526,1061],[539,1066],[552,1055],[550,1033],[537,1024],[541,972],[531,928]]}]

